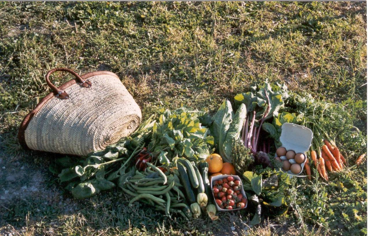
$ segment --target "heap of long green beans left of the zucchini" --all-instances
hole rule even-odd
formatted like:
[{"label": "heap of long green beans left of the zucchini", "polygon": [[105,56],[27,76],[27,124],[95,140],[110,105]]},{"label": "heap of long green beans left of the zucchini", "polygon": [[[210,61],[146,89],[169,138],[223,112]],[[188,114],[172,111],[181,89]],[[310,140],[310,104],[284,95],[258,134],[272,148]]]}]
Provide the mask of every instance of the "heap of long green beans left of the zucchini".
[{"label": "heap of long green beans left of the zucchini", "polygon": [[163,173],[151,163],[147,163],[144,172],[136,171],[134,176],[129,176],[121,186],[126,194],[132,196],[129,205],[140,201],[164,211],[170,218],[171,213],[178,213],[188,219],[192,213],[179,187],[182,185],[175,173]]}]

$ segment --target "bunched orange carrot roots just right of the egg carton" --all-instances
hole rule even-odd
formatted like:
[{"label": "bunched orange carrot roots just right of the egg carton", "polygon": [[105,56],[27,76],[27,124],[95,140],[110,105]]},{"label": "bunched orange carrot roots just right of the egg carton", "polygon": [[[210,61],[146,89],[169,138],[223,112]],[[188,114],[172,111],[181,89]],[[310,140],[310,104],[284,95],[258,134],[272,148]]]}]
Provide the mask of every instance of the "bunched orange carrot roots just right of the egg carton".
[{"label": "bunched orange carrot roots just right of the egg carton", "polygon": [[[341,171],[344,165],[347,165],[347,162],[346,159],[344,159],[344,156],[340,154],[339,149],[336,146],[333,147],[327,140],[324,140],[324,145],[322,146],[321,151],[321,156],[319,157],[317,157],[316,151],[311,151],[311,158],[313,161],[313,165],[317,169],[317,172],[319,172],[321,178],[328,181],[329,178],[327,176],[326,169],[329,172]],[[319,161],[319,163],[317,163],[317,161]],[[307,171],[307,169],[310,168],[307,162],[305,163],[305,168],[308,178],[311,179],[311,170]]]}]

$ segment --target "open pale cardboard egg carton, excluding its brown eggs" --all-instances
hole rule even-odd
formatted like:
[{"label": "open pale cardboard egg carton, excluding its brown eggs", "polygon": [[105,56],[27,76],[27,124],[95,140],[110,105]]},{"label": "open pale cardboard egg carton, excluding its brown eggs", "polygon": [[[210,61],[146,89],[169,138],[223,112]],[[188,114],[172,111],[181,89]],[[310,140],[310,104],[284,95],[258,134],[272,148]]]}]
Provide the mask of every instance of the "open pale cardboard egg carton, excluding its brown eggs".
[{"label": "open pale cardboard egg carton, excluding its brown eggs", "polygon": [[[284,123],[281,127],[281,135],[280,135],[280,142],[282,143],[282,146],[286,149],[286,151],[293,150],[296,154],[297,153],[303,153],[305,155],[305,161],[301,164],[301,171],[297,174],[293,174],[292,171],[284,171],[289,173],[290,175],[300,175],[303,171],[303,167],[305,166],[305,162],[307,160],[306,152],[311,146],[313,138],[312,130],[309,128],[306,128],[302,125],[296,125],[292,123]],[[275,153],[275,157],[276,157]],[[280,156],[280,159],[282,161],[287,160],[286,156]],[[288,160],[290,164],[297,163],[294,159]]]}]

